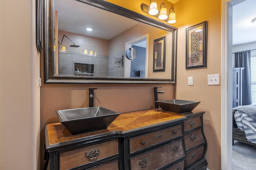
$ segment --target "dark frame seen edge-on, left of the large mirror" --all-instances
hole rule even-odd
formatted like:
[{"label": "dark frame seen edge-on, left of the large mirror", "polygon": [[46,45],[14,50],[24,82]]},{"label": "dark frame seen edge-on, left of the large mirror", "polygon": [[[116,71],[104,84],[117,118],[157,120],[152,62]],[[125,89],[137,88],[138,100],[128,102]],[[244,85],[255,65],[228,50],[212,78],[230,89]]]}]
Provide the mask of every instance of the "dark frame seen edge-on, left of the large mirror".
[{"label": "dark frame seen edge-on, left of the large mirror", "polygon": [[41,54],[42,52],[42,0],[36,0],[36,47]]}]

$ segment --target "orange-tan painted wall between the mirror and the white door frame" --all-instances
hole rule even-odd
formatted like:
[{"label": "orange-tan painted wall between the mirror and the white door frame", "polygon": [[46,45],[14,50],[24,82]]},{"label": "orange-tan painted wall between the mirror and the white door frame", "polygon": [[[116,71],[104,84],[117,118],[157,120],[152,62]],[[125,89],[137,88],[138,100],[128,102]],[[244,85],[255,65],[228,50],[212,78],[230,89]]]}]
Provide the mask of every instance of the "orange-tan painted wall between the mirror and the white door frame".
[{"label": "orange-tan painted wall between the mirror and the white door frame", "polygon": [[[220,170],[221,86],[208,86],[208,74],[221,78],[221,0],[180,0],[174,4],[178,28],[176,98],[196,100],[204,110],[204,133],[208,142],[206,159],[210,170]],[[207,20],[207,68],[186,70],[186,28]],[[188,86],[193,76],[194,85]],[[220,82],[221,83],[221,82]]]}]

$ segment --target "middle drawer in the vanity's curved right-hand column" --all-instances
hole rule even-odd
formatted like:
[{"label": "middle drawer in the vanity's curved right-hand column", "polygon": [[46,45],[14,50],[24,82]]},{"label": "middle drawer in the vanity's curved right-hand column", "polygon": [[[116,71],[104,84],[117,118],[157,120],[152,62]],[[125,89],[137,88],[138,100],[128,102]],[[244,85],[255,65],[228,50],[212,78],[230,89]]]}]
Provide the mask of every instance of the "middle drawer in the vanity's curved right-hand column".
[{"label": "middle drawer in the vanity's curved right-hand column", "polygon": [[204,143],[204,138],[201,129],[192,131],[184,135],[185,148],[186,150]]}]

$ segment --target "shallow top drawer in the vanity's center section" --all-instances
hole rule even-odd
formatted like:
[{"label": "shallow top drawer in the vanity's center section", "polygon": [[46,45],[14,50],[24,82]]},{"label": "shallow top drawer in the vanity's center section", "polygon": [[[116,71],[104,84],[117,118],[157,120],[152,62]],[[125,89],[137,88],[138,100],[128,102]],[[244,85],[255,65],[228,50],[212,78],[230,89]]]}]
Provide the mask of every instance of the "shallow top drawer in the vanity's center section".
[{"label": "shallow top drawer in the vanity's center section", "polygon": [[181,125],[130,138],[130,153],[182,135]]}]

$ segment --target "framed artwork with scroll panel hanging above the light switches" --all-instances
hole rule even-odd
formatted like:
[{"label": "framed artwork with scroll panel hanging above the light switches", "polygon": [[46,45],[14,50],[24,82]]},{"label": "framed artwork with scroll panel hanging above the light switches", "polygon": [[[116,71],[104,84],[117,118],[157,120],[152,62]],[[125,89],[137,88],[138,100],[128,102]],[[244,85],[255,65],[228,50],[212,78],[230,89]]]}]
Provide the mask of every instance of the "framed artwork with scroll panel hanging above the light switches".
[{"label": "framed artwork with scroll panel hanging above the light switches", "polygon": [[186,69],[206,68],[207,21],[186,28]]}]

